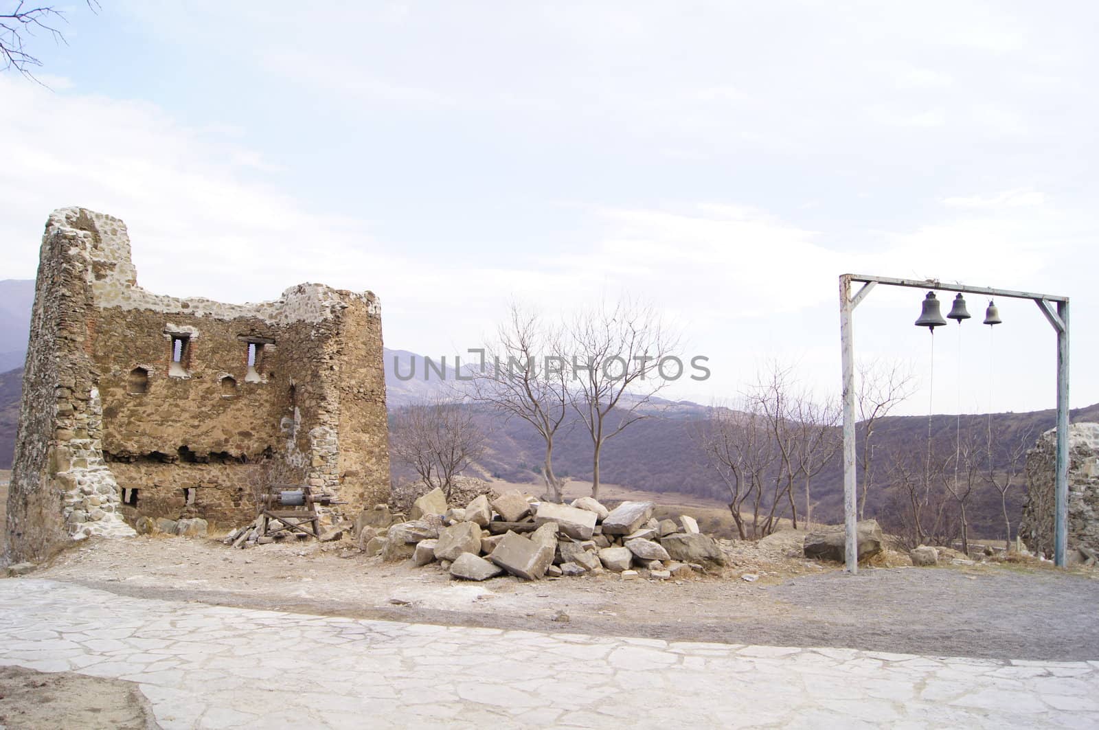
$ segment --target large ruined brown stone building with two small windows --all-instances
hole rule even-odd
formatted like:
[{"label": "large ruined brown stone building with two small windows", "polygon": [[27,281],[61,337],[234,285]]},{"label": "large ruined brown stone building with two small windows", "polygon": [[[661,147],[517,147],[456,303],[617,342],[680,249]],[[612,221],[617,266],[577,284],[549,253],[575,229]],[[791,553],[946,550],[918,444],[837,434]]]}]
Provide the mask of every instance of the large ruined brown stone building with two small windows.
[{"label": "large ruined brown stone building with two small windows", "polygon": [[389,495],[377,298],[301,284],[225,305],[136,284],[125,224],[54,211],[42,240],[8,555],[131,535],[138,516],[252,520],[270,484],[357,515]]}]

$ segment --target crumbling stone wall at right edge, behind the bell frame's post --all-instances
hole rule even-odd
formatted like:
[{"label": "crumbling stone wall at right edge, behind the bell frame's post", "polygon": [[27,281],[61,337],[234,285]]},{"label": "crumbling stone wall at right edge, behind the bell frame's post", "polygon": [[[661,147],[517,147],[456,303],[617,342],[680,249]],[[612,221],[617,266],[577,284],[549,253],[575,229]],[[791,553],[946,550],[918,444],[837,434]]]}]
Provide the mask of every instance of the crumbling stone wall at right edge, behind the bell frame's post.
[{"label": "crumbling stone wall at right edge, behind the bell frame's post", "polygon": [[[1026,548],[1053,556],[1057,431],[1043,433],[1026,452],[1026,497],[1019,534]],[[1068,427],[1068,549],[1099,551],[1099,423]]]}]

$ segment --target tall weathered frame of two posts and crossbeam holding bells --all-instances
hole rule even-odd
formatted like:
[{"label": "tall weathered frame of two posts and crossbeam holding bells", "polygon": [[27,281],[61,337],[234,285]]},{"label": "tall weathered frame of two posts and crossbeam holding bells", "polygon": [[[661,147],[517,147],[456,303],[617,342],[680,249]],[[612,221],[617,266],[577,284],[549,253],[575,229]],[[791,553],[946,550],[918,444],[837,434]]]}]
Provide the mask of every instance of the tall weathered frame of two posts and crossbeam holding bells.
[{"label": "tall weathered frame of two posts and crossbeam holding bells", "polygon": [[[853,281],[862,288],[852,296]],[[1068,297],[1057,297],[1032,291],[974,287],[964,284],[943,284],[937,279],[897,279],[888,276],[842,274],[840,276],[840,345],[843,351],[843,511],[846,532],[846,569],[858,572],[858,534],[855,498],[855,339],[853,318],[855,307],[878,284],[913,289],[937,289],[961,294],[980,294],[1009,299],[1030,299],[1037,303],[1046,320],[1057,333],[1057,465],[1054,477],[1054,564],[1065,565],[1068,546]],[[1054,310],[1056,305],[1056,310]],[[1009,535],[1010,537],[1010,535]]]}]

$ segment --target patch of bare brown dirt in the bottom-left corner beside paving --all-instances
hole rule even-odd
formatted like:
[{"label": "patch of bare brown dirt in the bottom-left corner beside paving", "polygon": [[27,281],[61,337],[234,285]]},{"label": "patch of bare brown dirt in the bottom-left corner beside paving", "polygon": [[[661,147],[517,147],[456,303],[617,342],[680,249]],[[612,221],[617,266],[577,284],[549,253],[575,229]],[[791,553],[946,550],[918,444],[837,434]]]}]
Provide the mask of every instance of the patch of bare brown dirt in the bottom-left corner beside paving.
[{"label": "patch of bare brown dirt in the bottom-left corner beside paving", "polygon": [[153,709],[137,685],[73,672],[0,667],[0,728],[155,730]]}]

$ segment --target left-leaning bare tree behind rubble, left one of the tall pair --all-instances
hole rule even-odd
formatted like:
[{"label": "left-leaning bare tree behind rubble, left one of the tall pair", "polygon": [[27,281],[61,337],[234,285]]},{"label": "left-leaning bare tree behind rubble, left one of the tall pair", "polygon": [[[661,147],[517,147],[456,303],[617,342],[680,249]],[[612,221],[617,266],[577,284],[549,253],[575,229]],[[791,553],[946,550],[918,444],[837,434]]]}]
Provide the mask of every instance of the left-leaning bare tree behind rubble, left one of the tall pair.
[{"label": "left-leaning bare tree behind rubble, left one of the tall pair", "polygon": [[559,325],[512,303],[497,341],[485,347],[493,354],[492,363],[476,375],[468,391],[507,418],[518,417],[534,427],[545,445],[542,476],[554,501],[560,501],[565,486],[553,471],[554,439],[568,424],[569,413],[569,370],[562,339]]}]

